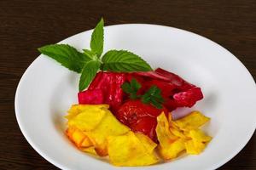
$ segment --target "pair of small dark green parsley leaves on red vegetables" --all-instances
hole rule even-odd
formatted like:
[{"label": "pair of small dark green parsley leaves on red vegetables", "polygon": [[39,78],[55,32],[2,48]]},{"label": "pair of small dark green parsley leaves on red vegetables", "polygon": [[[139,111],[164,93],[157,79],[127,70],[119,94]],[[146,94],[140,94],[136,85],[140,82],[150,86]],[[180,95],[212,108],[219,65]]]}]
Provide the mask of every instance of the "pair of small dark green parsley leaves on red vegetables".
[{"label": "pair of small dark green parsley leaves on red vegetables", "polygon": [[151,86],[148,91],[143,95],[138,95],[137,92],[142,85],[132,78],[131,82],[125,82],[121,88],[126,94],[129,94],[130,99],[141,99],[144,104],[151,104],[154,107],[161,109],[164,99],[161,96],[161,90],[157,86]]}]

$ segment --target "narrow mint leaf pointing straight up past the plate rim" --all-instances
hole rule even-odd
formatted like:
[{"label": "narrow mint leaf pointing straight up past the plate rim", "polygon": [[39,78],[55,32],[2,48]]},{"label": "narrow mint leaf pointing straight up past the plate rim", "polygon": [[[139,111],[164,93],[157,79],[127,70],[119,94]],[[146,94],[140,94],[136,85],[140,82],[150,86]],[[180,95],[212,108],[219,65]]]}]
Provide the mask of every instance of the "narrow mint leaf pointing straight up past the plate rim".
[{"label": "narrow mint leaf pointing straight up past the plate rim", "polygon": [[103,42],[104,42],[104,21],[103,19],[95,27],[94,31],[91,34],[90,38],[90,49],[91,52],[96,54],[98,58],[102,55],[103,52]]}]

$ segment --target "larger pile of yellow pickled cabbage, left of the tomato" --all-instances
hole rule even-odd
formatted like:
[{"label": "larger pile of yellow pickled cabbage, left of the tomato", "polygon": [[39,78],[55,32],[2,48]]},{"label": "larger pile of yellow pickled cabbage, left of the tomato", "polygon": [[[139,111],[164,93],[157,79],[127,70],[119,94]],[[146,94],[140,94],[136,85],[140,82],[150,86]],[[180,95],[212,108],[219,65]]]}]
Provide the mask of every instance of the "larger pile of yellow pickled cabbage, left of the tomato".
[{"label": "larger pile of yellow pickled cabbage, left of the tomato", "polygon": [[[90,117],[96,111],[98,116]],[[73,105],[66,117],[67,136],[79,150],[109,156],[116,166],[145,166],[159,161],[154,153],[157,144],[119,122],[108,105]]]}]

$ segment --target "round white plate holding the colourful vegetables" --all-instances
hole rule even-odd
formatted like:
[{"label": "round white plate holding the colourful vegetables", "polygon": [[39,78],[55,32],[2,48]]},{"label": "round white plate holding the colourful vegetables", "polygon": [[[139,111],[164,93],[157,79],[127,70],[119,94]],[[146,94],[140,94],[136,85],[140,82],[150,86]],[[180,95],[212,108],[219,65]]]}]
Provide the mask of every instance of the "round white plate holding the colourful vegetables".
[{"label": "round white plate holding the colourful vegetables", "polygon": [[[91,31],[61,43],[89,48]],[[207,170],[220,167],[247,144],[256,125],[256,86],[246,67],[229,51],[205,37],[172,27],[119,25],[105,27],[105,52],[128,49],[153,68],[173,71],[202,88],[205,98],[195,109],[210,116],[213,139],[199,156],[140,169]],[[29,144],[61,169],[120,169],[77,150],[66,138],[66,115],[77,103],[79,75],[40,55],[20,80],[15,112]],[[132,169],[137,167],[123,167]]]}]

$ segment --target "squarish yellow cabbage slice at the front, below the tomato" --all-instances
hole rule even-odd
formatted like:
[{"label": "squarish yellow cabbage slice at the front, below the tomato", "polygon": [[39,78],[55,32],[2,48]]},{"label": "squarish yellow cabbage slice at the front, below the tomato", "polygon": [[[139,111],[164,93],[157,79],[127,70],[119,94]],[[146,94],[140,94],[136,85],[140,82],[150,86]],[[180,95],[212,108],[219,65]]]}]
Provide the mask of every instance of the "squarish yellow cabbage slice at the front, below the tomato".
[{"label": "squarish yellow cabbage slice at the front, below the tomato", "polygon": [[143,140],[137,139],[131,131],[108,137],[108,155],[115,166],[147,166],[159,161],[154,152],[148,154]]}]

